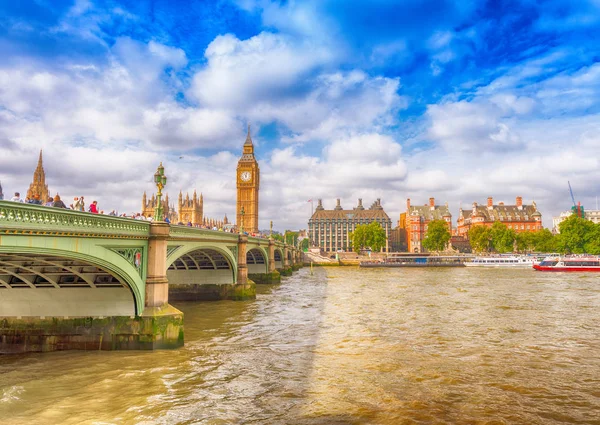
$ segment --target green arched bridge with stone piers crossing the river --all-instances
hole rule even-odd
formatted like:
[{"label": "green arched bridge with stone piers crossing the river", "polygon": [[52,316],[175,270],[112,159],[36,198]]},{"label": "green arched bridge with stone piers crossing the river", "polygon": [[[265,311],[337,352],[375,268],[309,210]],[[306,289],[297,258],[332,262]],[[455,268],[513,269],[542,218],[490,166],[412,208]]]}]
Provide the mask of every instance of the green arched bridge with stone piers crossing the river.
[{"label": "green arched bridge with stone piers crossing the river", "polygon": [[178,347],[169,300],[251,299],[301,263],[271,238],[0,201],[0,353]]}]

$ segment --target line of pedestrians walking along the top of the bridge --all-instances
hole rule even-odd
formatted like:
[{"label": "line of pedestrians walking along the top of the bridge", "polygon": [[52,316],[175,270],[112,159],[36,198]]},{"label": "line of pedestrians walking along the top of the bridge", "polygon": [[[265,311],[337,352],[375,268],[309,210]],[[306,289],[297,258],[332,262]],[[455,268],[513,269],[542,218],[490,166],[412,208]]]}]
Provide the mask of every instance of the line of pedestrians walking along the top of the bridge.
[{"label": "line of pedestrians walking along the top of the bridge", "polygon": [[[20,203],[25,203],[25,204],[44,205],[46,207],[63,208],[63,209],[68,209],[68,210],[73,210],[73,211],[80,211],[80,212],[89,212],[92,214],[105,214],[104,210],[100,210],[98,208],[98,201],[93,201],[91,204],[89,204],[89,206],[86,210],[85,198],[83,196],[76,196],[75,198],[73,198],[73,203],[69,204],[69,206],[67,206],[62,201],[62,199],[60,198],[60,195],[58,193],[56,194],[56,196],[49,197],[48,201],[46,203],[43,203],[40,200],[39,195],[34,195],[33,198],[31,198],[31,199],[30,198],[23,199],[23,198],[21,198],[21,194],[19,192],[15,192],[15,196],[13,196],[10,200],[13,202],[20,202]],[[153,217],[144,216],[143,214],[141,214],[139,212],[131,213],[131,214],[126,214],[126,213],[119,214],[117,211],[112,210],[111,212],[109,212],[106,215],[109,215],[112,217],[132,218],[134,220],[143,220],[143,221],[153,221],[154,220]],[[178,226],[196,227],[196,228],[200,228],[200,229],[214,230],[214,231],[218,231],[218,232],[226,232],[226,233],[237,233],[238,232],[238,229],[232,225],[210,226],[210,225],[206,225],[206,224],[193,224],[191,221],[188,221],[187,223],[182,223],[182,222],[171,223],[171,220],[169,219],[169,217],[167,215],[164,216],[163,221],[170,223],[170,224],[176,224]],[[268,237],[268,236],[265,236],[260,233],[244,232],[244,234],[248,235],[248,236],[258,237],[258,238]]]}]

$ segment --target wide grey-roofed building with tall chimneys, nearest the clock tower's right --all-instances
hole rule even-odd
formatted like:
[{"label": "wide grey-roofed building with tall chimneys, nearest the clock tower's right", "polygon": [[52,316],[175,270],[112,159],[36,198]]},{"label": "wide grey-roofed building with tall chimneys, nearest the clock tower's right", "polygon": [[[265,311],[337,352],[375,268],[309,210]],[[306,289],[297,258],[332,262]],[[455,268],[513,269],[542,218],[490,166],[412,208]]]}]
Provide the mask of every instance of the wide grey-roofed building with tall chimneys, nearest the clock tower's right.
[{"label": "wide grey-roofed building with tall chimneys, nearest the clock tower's right", "polygon": [[392,230],[392,220],[383,210],[381,199],[377,199],[368,209],[363,207],[362,199],[351,210],[342,208],[340,200],[334,209],[326,210],[319,199],[314,214],[308,221],[308,235],[311,245],[319,247],[325,252],[352,251],[352,233],[356,226],[378,222],[385,230],[386,247],[384,252],[389,252],[389,237]]}]

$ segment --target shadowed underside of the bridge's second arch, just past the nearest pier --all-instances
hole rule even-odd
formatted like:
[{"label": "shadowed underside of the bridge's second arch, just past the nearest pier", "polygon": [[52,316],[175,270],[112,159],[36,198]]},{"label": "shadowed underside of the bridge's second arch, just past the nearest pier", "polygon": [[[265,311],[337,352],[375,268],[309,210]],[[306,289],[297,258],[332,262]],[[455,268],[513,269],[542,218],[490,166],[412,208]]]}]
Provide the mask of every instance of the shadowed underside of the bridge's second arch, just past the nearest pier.
[{"label": "shadowed underside of the bridge's second arch, just past the nearest pier", "polygon": [[170,285],[232,284],[235,273],[222,252],[198,248],[173,261],[167,268],[167,279]]}]

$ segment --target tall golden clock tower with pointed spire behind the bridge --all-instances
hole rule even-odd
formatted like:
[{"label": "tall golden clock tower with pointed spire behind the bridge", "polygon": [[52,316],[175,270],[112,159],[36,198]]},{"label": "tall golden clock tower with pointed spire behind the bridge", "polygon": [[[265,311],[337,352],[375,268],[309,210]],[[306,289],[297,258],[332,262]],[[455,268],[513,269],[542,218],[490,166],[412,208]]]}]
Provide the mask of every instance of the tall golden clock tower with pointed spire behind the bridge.
[{"label": "tall golden clock tower with pointed spire behind the bridge", "polygon": [[[258,233],[258,189],[260,170],[254,158],[250,126],[237,168],[237,225],[248,233]],[[242,213],[243,212],[243,213]]]}]

